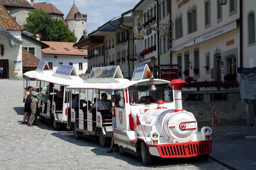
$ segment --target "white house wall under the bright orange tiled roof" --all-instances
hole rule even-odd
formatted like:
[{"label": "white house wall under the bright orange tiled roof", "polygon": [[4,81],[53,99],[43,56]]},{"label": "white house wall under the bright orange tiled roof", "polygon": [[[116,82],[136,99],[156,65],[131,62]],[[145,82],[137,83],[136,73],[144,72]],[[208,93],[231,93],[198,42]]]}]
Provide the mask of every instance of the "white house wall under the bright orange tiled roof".
[{"label": "white house wall under the bright orange tiled roof", "polygon": [[[87,59],[82,56],[70,56],[70,55],[57,55],[57,58],[54,58],[54,55],[43,55],[42,60],[46,62],[52,62],[53,72],[56,71],[59,66],[59,62],[63,62],[65,65],[69,65],[69,62],[73,63],[73,66],[76,68],[77,74],[84,74],[87,71]],[[82,70],[79,70],[79,63],[82,64]]]}]

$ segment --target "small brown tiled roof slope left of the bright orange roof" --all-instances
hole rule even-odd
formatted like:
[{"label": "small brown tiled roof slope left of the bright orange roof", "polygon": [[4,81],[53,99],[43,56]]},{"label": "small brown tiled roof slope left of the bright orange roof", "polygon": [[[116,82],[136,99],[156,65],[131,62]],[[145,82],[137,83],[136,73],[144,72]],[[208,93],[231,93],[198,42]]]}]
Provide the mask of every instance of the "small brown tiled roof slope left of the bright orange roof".
[{"label": "small brown tiled roof slope left of the bright orange roof", "polygon": [[40,60],[35,55],[22,48],[22,67],[37,67]]}]

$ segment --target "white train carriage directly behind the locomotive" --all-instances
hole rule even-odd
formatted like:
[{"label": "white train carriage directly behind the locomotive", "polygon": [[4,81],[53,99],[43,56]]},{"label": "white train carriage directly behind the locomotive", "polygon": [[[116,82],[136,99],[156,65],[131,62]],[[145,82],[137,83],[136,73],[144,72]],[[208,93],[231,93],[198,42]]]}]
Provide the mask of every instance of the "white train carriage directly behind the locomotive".
[{"label": "white train carriage directly behind the locomotive", "polygon": [[[124,79],[119,66],[106,66],[93,68],[89,79],[84,83],[67,87],[69,94],[78,91],[79,102],[85,101],[85,104],[79,104],[78,107],[71,105],[68,112],[67,129],[73,130],[75,138],[99,136],[100,145],[103,147],[108,145],[111,141],[112,118],[106,118],[106,115],[111,113],[110,110],[99,110],[97,101],[100,100],[102,93],[106,93],[109,99],[114,93],[115,85],[128,82],[128,79]],[[91,107],[89,101],[93,101],[94,98],[96,98],[96,108],[89,113]]]}]

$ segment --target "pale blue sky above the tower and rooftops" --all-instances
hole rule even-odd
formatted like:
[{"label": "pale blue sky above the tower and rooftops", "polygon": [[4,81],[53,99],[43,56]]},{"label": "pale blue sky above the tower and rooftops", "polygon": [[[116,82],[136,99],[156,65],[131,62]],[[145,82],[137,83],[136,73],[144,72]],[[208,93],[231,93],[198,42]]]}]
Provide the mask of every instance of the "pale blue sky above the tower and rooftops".
[{"label": "pale blue sky above the tower and rooftops", "polygon": [[[30,2],[30,0],[27,0]],[[91,33],[98,27],[114,17],[134,8],[140,0],[34,0],[34,3],[51,3],[67,17],[69,10],[75,2],[82,14],[87,14],[86,30]]]}]

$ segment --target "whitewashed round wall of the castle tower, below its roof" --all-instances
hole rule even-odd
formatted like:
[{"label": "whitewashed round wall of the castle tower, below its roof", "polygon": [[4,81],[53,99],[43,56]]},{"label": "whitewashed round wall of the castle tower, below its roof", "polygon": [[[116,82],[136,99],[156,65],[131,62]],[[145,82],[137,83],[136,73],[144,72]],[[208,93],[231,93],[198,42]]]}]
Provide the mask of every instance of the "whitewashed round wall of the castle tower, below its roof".
[{"label": "whitewashed round wall of the castle tower, below its roof", "polygon": [[83,35],[83,31],[86,28],[86,21],[85,20],[76,20],[76,19],[70,19],[70,20],[66,20],[66,23],[68,25],[68,28],[70,31],[73,32],[73,30],[75,31],[74,34],[77,37],[76,42],[78,42],[78,40],[81,38],[81,36]]}]

